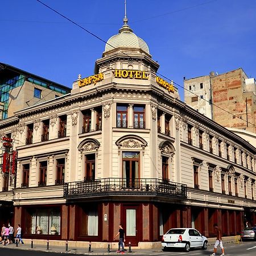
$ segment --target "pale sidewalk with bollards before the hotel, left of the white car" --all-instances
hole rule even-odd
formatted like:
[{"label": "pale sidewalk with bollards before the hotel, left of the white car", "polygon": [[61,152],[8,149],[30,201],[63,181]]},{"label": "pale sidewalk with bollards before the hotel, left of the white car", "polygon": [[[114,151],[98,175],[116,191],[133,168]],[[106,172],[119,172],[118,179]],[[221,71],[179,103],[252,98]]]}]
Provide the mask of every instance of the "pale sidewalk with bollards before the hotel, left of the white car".
[{"label": "pale sidewalk with bollards before the hotel, left of the white car", "polygon": [[[109,255],[109,254],[117,254],[118,248],[112,248],[110,249],[110,253],[108,253],[108,248],[106,249],[99,249],[99,248],[91,248],[91,252],[89,253],[89,248],[81,248],[81,247],[72,247],[68,246],[68,251],[66,251],[66,248],[63,246],[51,246],[49,243],[49,250],[47,250],[47,245],[33,245],[33,249],[31,248],[31,243],[24,243],[22,245],[21,243],[18,244],[18,247],[14,243],[11,243],[10,245],[0,245],[1,247],[6,247],[9,249],[14,250],[30,250],[30,251],[44,251],[49,253],[67,253],[67,254],[83,254],[83,255]],[[131,253],[129,253],[129,248],[126,247],[125,254],[137,254],[137,255],[148,255],[148,254],[159,254],[162,253],[162,249],[138,249],[136,247],[131,247]]]}]

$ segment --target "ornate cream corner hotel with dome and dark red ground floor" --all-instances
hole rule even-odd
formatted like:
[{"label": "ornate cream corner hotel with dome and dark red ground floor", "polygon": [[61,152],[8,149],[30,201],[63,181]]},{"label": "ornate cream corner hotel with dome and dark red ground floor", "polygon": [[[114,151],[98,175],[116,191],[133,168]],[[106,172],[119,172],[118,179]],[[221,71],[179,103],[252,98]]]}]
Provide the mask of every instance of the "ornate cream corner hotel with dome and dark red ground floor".
[{"label": "ornate cream corner hotel with dome and dark red ground floor", "polygon": [[[256,221],[256,148],[179,100],[124,20],[70,94],[0,122],[18,151],[0,192],[24,238],[154,246],[170,228],[224,236]],[[1,188],[4,175],[1,176]]]}]

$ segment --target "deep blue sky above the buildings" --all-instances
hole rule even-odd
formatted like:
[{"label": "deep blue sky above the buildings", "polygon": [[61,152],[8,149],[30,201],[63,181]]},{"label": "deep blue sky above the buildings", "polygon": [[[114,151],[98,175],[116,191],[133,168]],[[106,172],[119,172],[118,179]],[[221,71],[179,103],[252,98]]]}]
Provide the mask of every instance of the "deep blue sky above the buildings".
[{"label": "deep blue sky above the buildings", "polygon": [[[124,0],[41,1],[105,41],[122,26]],[[255,12],[255,0],[127,0],[130,27],[180,85],[240,67],[256,77]],[[0,62],[69,87],[93,75],[105,43],[36,0],[1,1],[0,14]]]}]

